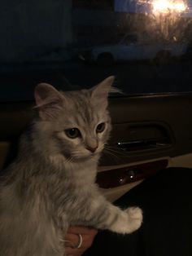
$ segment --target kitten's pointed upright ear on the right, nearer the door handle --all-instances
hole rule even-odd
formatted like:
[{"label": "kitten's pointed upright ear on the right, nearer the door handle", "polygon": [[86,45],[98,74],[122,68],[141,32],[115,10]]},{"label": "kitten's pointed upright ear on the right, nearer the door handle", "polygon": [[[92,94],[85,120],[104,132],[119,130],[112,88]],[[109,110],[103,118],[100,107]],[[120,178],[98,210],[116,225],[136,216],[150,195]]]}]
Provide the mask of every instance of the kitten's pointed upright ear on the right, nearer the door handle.
[{"label": "kitten's pointed upright ear on the right, nearer the door handle", "polygon": [[103,82],[100,82],[97,86],[94,86],[91,95],[94,104],[97,104],[103,108],[107,108],[107,97],[114,80],[114,76],[107,77],[105,80],[103,80]]}]

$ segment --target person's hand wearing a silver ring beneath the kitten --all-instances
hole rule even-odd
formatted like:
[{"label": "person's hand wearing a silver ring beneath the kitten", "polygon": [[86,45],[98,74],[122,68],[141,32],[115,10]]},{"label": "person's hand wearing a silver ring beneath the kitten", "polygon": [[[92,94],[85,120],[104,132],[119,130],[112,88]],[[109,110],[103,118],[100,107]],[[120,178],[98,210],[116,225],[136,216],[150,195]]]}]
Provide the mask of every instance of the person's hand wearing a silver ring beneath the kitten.
[{"label": "person's hand wearing a silver ring beneath the kitten", "polygon": [[[97,232],[96,229],[89,227],[69,227],[68,233],[64,238],[66,254],[68,256],[81,256],[84,254],[85,250],[92,245]],[[74,248],[80,242],[79,234],[82,236],[82,244],[80,248]]]}]

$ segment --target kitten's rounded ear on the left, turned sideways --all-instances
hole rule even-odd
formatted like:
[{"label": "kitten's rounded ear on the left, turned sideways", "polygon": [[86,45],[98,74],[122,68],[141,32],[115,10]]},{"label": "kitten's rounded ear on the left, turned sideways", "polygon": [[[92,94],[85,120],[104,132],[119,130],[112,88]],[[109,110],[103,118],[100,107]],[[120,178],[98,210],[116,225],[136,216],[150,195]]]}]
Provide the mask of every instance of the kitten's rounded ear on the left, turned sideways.
[{"label": "kitten's rounded ear on the left, turned sideways", "polygon": [[38,84],[35,88],[34,97],[35,108],[38,109],[39,117],[44,121],[55,117],[55,114],[62,108],[63,96],[50,84]]}]

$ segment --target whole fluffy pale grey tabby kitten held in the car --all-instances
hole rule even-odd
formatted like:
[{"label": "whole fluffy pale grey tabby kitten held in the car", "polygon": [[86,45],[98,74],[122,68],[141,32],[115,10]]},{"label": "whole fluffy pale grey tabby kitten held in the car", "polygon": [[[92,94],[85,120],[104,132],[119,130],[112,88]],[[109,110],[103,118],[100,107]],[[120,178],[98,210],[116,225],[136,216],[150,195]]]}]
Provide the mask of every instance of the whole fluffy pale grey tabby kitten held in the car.
[{"label": "whole fluffy pale grey tabby kitten held in the car", "polygon": [[111,130],[107,95],[114,77],[90,90],[36,87],[37,117],[0,186],[0,255],[63,256],[70,225],[131,233],[142,210],[108,202],[94,183]]}]

